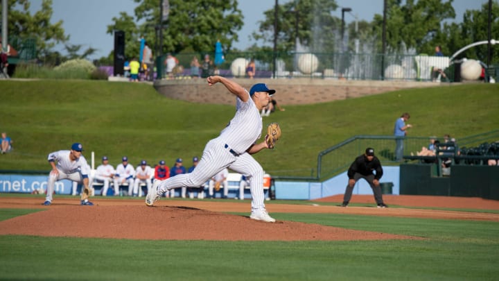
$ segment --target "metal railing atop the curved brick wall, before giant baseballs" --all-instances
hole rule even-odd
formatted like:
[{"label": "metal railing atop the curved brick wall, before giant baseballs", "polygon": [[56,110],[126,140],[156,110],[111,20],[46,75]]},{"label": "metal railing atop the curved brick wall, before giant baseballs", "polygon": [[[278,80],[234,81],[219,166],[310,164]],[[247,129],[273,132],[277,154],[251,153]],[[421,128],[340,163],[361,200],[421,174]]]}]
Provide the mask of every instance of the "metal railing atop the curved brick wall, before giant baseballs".
[{"label": "metal railing atop the curved brick wall, before giant baseballs", "polygon": [[[204,55],[214,60],[214,53],[175,54],[182,72],[178,76],[191,76],[191,60],[198,58],[202,64]],[[256,63],[256,78],[325,78],[349,80],[441,80],[453,82],[454,65],[448,57],[401,55],[379,53],[277,53],[274,71],[273,53],[231,52],[225,61],[216,67],[218,73],[228,77],[245,77],[249,60]],[[157,58],[157,69],[164,77],[166,57]],[[382,70],[382,65],[384,69]],[[443,69],[445,77],[436,69]],[[214,69],[213,69],[214,70]],[[499,74],[496,74],[496,76]],[[171,78],[171,77],[170,77]],[[499,77],[497,77],[499,78]]]}]

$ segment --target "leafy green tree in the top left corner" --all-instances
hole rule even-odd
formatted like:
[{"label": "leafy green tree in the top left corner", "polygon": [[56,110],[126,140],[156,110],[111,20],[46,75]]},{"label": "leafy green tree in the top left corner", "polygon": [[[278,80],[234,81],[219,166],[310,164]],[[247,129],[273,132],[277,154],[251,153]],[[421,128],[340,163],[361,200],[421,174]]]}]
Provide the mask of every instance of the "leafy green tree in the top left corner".
[{"label": "leafy green tree in the top left corner", "polygon": [[55,44],[69,40],[69,35],[64,35],[62,20],[51,24],[52,0],[43,0],[41,10],[34,15],[29,12],[28,0],[10,0],[7,4],[8,33],[20,37],[21,40],[36,38],[39,57],[47,56]]}]

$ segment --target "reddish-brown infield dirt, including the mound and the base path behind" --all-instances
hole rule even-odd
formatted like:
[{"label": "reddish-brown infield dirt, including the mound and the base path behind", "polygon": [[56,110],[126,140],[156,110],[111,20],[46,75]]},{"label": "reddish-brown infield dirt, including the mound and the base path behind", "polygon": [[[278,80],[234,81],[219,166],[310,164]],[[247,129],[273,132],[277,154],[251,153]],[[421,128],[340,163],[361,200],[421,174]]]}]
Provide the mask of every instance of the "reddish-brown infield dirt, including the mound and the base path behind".
[{"label": "reddish-brown infield dirt, including the mound and the base path behind", "polygon": [[[322,198],[321,202],[341,202],[341,196]],[[52,237],[97,237],[116,239],[227,240],[227,241],[297,241],[297,240],[373,240],[418,239],[403,235],[333,228],[324,225],[277,221],[263,223],[248,216],[225,214],[247,212],[249,201],[168,201],[146,207],[141,200],[92,198],[93,207],[78,205],[78,198],[57,198],[50,207],[43,198],[0,198],[0,208],[43,208],[13,219],[0,221],[0,235],[37,235]],[[353,196],[356,203],[371,203],[372,196]],[[459,207],[499,210],[498,201],[481,198],[432,196],[385,196],[389,205],[409,207]],[[370,216],[401,216],[429,219],[469,219],[499,221],[499,214],[447,210],[409,209],[403,207],[338,207],[336,205],[274,204],[272,213],[331,213]]]}]

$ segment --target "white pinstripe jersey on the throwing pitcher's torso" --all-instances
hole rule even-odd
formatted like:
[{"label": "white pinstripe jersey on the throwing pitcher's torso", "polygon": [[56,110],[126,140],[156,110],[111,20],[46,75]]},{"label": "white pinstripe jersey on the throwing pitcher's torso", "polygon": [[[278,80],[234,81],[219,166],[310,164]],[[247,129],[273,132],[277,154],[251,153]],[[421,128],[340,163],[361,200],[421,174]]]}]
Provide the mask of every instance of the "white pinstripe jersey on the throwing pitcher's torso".
[{"label": "white pinstripe jersey on the throwing pitcher's torso", "polygon": [[[247,90],[245,92],[249,96]],[[222,130],[220,138],[236,153],[242,154],[260,138],[261,130],[260,110],[256,108],[251,96],[246,102],[237,97],[236,115],[234,115],[227,127]]]}]

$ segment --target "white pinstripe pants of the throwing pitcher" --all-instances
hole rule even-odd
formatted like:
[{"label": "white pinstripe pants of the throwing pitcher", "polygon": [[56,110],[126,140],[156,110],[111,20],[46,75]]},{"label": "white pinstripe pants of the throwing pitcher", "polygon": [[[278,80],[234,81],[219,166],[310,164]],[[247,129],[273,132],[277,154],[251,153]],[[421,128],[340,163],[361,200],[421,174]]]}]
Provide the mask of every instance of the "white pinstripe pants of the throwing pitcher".
[{"label": "white pinstripe pants of the throwing pitcher", "polygon": [[220,139],[211,139],[204,147],[198,166],[192,173],[183,173],[161,181],[158,194],[168,189],[179,187],[200,187],[222,169],[229,168],[249,178],[249,191],[252,195],[252,211],[265,209],[263,193],[263,169],[259,162],[249,153],[235,156],[225,148],[225,142]]}]

